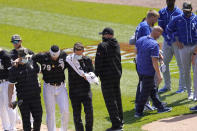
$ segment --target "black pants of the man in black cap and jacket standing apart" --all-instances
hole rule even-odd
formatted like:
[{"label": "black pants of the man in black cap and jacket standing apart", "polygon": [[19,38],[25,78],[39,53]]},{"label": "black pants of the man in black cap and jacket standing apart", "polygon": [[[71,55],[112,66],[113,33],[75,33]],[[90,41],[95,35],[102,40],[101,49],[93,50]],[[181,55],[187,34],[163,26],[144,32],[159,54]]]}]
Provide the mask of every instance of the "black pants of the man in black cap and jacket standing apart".
[{"label": "black pants of the man in black cap and jacket standing apart", "polygon": [[123,126],[120,78],[101,79],[101,89],[113,128]]}]

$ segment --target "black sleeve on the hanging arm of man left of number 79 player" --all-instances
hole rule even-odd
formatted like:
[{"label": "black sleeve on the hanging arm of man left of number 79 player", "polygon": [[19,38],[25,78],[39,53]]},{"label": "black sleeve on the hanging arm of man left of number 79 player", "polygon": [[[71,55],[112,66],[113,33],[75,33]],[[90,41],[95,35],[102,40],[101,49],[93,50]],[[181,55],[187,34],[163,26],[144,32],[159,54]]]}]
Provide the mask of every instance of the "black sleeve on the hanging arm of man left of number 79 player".
[{"label": "black sleeve on the hanging arm of man left of number 79 player", "polygon": [[9,70],[9,75],[8,75],[8,81],[12,84],[16,84],[17,83],[17,70],[16,70],[16,67],[12,67],[10,70]]}]

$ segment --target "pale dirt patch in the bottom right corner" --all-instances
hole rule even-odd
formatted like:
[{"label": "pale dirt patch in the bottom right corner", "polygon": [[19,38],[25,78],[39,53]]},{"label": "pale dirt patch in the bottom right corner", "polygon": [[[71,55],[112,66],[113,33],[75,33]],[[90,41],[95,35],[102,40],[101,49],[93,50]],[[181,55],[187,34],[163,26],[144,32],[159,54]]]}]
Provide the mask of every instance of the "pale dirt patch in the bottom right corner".
[{"label": "pale dirt patch in the bottom right corner", "polygon": [[197,114],[161,119],[142,127],[145,131],[197,131]]}]

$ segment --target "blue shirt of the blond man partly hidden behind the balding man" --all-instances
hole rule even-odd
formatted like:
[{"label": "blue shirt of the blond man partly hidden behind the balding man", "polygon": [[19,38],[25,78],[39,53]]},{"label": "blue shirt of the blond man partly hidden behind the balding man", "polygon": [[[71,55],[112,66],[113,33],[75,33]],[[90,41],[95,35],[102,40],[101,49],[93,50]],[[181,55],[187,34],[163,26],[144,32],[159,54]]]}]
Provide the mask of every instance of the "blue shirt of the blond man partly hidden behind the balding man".
[{"label": "blue shirt of the blond man partly hidden behind the balding man", "polygon": [[152,29],[151,27],[148,25],[147,21],[143,21],[141,22],[135,31],[135,40],[137,41],[140,37],[142,36],[147,36],[150,35]]}]

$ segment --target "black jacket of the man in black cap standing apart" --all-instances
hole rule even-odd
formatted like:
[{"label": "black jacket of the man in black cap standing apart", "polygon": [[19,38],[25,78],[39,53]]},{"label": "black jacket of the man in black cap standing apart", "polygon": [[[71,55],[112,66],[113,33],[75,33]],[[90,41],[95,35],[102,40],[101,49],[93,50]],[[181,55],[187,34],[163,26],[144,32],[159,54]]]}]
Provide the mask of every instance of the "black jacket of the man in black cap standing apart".
[{"label": "black jacket of the man in black cap standing apart", "polygon": [[103,39],[95,58],[95,74],[101,81],[120,78],[122,75],[120,45],[115,38]]}]

